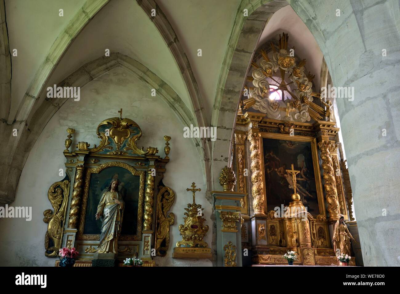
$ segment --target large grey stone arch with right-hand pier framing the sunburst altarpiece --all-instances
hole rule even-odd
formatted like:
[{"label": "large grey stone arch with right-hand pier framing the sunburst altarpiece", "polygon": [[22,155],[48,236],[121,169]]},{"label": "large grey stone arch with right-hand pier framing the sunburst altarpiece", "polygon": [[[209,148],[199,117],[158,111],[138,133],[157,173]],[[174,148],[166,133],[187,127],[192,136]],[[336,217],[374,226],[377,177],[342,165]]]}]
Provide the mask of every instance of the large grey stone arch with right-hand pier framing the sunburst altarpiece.
[{"label": "large grey stone arch with right-hand pier framing the sunburst altarpiece", "polygon": [[[271,10],[264,9],[268,5],[284,4],[278,0],[250,2],[242,1],[238,9],[226,54],[228,58],[221,72],[221,89],[217,91],[214,104],[212,122],[217,125],[219,135],[222,134],[212,146],[214,185],[218,183],[221,167],[229,161],[236,109],[252,59],[248,56],[252,56],[256,35],[264,28],[262,24],[253,26],[254,36],[250,38],[253,42],[246,44],[248,40],[242,36],[250,31],[247,22],[265,23],[265,13]],[[354,87],[356,99],[337,99],[337,105],[344,144],[348,147],[346,155],[363,261],[366,266],[395,266],[396,250],[388,249],[396,248],[398,234],[394,231],[400,229],[400,203],[394,201],[397,193],[393,192],[400,189],[400,182],[393,181],[392,174],[400,165],[400,85],[393,83],[400,79],[400,5],[396,1],[374,1],[364,6],[359,1],[339,0],[332,8],[304,0],[288,2],[313,34],[334,85]],[[247,20],[240,20],[243,5],[253,11],[250,14],[249,9]],[[340,17],[335,15],[336,6],[341,11]],[[385,34],[377,34],[380,29]],[[241,52],[245,46],[250,49]],[[391,54],[382,58],[382,49],[390,50]],[[229,54],[232,50],[233,54]],[[241,59],[241,55],[247,58]],[[392,130],[390,135],[383,137],[382,128]],[[225,156],[223,162],[218,158],[221,154]],[[383,203],[390,203],[392,216],[384,216],[380,210],[372,213],[371,207],[384,208]]]}]

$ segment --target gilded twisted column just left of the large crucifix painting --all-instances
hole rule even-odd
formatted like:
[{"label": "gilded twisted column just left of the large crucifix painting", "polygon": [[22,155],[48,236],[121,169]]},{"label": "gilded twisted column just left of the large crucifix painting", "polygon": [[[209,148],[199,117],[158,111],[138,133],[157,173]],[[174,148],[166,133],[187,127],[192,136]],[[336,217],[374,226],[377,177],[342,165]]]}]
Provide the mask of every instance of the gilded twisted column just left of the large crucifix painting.
[{"label": "gilded twisted column just left of the large crucifix painting", "polygon": [[263,195],[263,183],[262,183],[262,171],[260,163],[260,147],[258,141],[260,138],[260,133],[251,133],[248,135],[248,140],[250,141],[250,169],[252,172],[251,182],[252,187],[252,197],[253,197],[253,209],[255,214],[265,214],[264,208],[264,195]]}]

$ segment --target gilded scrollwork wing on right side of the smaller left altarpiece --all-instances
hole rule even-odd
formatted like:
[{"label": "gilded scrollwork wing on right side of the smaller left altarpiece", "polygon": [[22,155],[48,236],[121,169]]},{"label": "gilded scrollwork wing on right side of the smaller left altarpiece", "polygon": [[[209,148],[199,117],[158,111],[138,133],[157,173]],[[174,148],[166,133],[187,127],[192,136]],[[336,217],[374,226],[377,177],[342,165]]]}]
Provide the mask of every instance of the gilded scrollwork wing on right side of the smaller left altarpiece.
[{"label": "gilded scrollwork wing on right side of the smaller left altarpiece", "polygon": [[169,187],[162,187],[157,195],[157,232],[156,255],[165,256],[170,244],[170,226],[174,224],[175,215],[168,213],[175,194]]}]

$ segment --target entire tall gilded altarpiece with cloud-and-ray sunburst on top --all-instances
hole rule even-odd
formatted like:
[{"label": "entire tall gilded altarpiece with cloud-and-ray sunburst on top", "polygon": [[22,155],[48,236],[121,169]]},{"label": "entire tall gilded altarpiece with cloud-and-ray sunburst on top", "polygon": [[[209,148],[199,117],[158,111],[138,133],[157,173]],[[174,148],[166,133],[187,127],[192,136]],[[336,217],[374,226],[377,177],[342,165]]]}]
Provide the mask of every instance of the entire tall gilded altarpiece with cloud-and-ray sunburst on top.
[{"label": "entire tall gilded altarpiece with cloud-and-ray sunburst on top", "polygon": [[[236,191],[246,193],[242,247],[252,250],[253,264],[287,264],[282,255],[293,250],[299,255],[297,264],[330,265],[336,256],[329,227],[339,214],[352,219],[351,188],[342,178],[346,169],[338,155],[332,101],[322,97],[306,60],[292,49],[286,33],[268,40],[254,53],[244,80],[233,148]],[[301,154],[294,156],[288,148],[299,148]],[[300,202],[290,197],[290,166],[299,174]],[[281,203],[276,205],[276,199]],[[301,207],[303,202],[310,208],[305,221],[276,217],[272,210],[275,205]]]}]

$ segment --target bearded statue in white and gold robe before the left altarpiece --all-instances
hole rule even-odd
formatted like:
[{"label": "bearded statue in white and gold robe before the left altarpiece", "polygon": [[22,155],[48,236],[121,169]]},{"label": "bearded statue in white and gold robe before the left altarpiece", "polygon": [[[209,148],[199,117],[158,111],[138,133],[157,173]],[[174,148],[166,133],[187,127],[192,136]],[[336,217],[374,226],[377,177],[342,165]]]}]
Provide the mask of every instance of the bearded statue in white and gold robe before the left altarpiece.
[{"label": "bearded statue in white and gold robe before the left altarpiece", "polygon": [[118,253],[118,238],[121,234],[125,203],[118,192],[118,179],[112,179],[103,192],[97,207],[96,220],[102,221],[98,253]]}]

